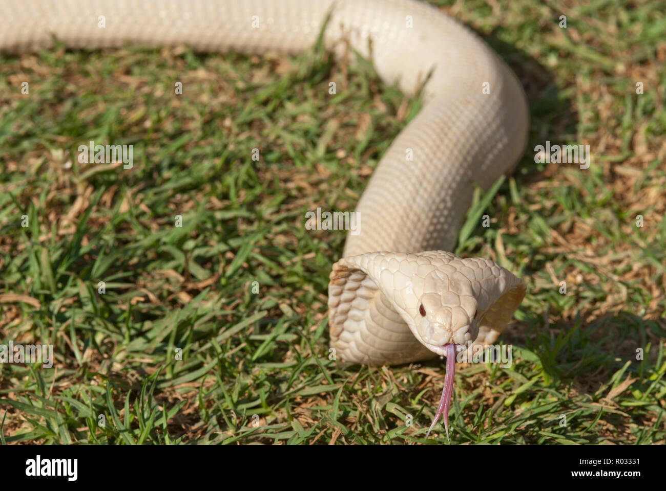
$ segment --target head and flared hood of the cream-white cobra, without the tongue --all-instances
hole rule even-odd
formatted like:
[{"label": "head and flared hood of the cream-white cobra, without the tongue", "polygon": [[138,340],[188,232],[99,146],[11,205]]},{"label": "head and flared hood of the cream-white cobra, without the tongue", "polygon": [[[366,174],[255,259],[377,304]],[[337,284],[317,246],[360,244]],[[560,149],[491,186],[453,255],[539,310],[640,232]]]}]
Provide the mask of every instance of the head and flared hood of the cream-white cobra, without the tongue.
[{"label": "head and flared hood of the cream-white cobra, without the tongue", "polygon": [[332,346],[343,359],[364,363],[384,357],[382,345],[367,335],[366,317],[387,317],[388,307],[400,319],[385,321],[402,320],[428,351],[447,356],[449,344],[472,349],[494,341],[522,301],[525,283],[490,259],[373,252],[340,259],[328,295]]}]

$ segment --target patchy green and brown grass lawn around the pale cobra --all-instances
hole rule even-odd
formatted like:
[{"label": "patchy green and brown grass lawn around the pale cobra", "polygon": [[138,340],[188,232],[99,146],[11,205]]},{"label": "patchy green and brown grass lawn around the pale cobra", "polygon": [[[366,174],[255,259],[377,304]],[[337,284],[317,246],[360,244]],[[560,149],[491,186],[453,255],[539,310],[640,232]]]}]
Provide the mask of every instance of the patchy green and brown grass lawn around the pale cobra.
[{"label": "patchy green and brown grass lawn around the pale cobra", "polygon": [[[663,444],[665,3],[444,11],[511,65],[531,110],[523,160],[457,249],[527,281],[501,337],[514,363],[458,366],[452,444]],[[444,361],[328,359],[345,236],[304,228],[318,206],[353,210],[418,96],[318,50],[0,61],[0,344],[55,355],[0,366],[2,443],[446,443],[441,423],[424,439]],[[89,140],[132,144],[134,168],[80,164]],[[536,164],[545,140],[589,144],[590,168]]]}]

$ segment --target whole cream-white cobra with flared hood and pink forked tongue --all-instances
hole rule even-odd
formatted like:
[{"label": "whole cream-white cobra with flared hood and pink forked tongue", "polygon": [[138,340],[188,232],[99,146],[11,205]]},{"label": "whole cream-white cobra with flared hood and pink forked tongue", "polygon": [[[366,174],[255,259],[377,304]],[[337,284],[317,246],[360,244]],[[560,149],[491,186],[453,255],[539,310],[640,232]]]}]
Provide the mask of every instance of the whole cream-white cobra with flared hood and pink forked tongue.
[{"label": "whole cream-white cobra with flared hood and pink forked tongue", "polygon": [[456,355],[494,343],[525,296],[507,269],[450,251],[476,187],[512,172],[527,144],[515,74],[440,9],[416,0],[0,0],[0,49],[186,45],[296,55],[316,43],[372,62],[421,108],[391,142],[354,213],[328,285],[335,359],[397,365],[446,357],[430,434],[448,412]]}]

